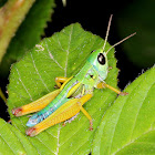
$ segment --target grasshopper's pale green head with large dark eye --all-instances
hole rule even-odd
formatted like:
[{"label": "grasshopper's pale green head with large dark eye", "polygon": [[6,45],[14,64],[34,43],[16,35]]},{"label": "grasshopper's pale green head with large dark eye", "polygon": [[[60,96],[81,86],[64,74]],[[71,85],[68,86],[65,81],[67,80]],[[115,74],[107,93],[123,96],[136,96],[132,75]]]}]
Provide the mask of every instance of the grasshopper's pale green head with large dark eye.
[{"label": "grasshopper's pale green head with large dark eye", "polygon": [[107,62],[106,53],[103,52],[103,49],[93,51],[89,56],[87,61],[96,70],[100,79],[105,80],[108,71],[108,62]]}]

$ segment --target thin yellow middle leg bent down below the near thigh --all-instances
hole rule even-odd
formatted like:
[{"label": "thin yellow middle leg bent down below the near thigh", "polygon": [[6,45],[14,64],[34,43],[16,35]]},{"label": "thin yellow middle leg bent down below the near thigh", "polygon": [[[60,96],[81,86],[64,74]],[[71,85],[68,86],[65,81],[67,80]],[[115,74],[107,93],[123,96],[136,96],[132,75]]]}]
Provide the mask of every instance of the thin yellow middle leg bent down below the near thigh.
[{"label": "thin yellow middle leg bent down below the near thigh", "polygon": [[82,105],[83,105],[85,102],[87,102],[91,97],[92,97],[92,94],[86,94],[86,95],[84,95],[83,97],[81,97],[81,99],[78,101],[78,104],[79,104],[79,106],[80,106],[80,110],[82,111],[82,113],[83,113],[83,114],[89,118],[89,121],[90,121],[90,131],[93,130],[93,121],[92,121],[91,115],[83,108]]}]

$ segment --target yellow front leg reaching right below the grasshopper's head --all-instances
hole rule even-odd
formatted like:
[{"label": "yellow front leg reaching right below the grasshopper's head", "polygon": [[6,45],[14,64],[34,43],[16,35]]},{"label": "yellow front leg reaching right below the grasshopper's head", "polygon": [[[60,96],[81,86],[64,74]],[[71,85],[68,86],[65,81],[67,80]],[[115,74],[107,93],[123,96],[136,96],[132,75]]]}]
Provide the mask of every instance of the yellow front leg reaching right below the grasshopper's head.
[{"label": "yellow front leg reaching right below the grasshopper's head", "polygon": [[117,89],[115,89],[115,87],[113,87],[113,86],[111,86],[111,85],[108,85],[108,84],[106,84],[106,83],[103,83],[103,82],[101,82],[101,83],[97,84],[97,89],[103,89],[103,87],[107,87],[107,89],[110,89],[110,90],[116,92],[116,93],[120,94],[120,95],[127,95],[127,94],[128,94],[128,93],[126,93],[126,92],[121,92],[121,91],[118,91]]}]

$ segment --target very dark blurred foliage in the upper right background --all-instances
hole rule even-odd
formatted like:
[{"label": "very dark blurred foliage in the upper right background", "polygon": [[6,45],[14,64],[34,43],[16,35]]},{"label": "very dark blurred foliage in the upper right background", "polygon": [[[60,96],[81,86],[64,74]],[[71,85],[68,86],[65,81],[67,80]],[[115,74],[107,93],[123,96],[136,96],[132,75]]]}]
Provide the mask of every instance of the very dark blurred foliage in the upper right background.
[{"label": "very dark blurred foliage in the upper right background", "polygon": [[128,4],[117,19],[121,38],[133,32],[137,34],[122,45],[127,58],[140,68],[155,62],[155,1],[136,0]]}]

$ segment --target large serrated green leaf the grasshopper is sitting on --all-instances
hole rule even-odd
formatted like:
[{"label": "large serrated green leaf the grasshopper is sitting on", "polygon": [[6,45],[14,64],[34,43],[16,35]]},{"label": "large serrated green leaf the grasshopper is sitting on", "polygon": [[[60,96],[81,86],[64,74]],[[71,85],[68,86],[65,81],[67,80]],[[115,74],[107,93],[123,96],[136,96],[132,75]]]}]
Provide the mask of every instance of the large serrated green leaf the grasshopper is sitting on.
[{"label": "large serrated green leaf the grasshopper is sitting on", "polygon": [[[54,90],[55,76],[75,74],[85,63],[91,51],[103,45],[104,41],[84,31],[79,23],[64,28],[51,38],[37,44],[11,69],[8,86],[8,106],[12,124],[25,135],[28,116],[14,117],[11,110],[28,104]],[[110,44],[106,44],[107,50]],[[108,53],[110,71],[106,82],[116,87],[117,69],[114,50]],[[115,100],[111,90],[95,90],[94,96],[84,108],[93,117],[93,131],[89,131],[89,120],[80,113],[75,121],[54,125],[35,137],[28,137],[40,154],[89,154],[94,133],[105,111]]]}]

